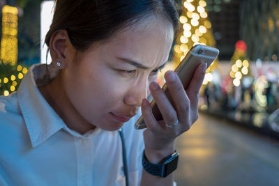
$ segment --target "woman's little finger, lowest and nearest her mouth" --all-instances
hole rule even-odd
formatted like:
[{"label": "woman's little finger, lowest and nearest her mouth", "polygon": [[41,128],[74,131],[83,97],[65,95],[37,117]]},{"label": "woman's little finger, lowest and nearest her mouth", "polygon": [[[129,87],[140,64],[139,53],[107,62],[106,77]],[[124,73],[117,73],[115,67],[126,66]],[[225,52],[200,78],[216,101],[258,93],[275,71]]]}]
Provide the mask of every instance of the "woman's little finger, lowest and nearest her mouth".
[{"label": "woman's little finger, lowest and nearest her mouth", "polygon": [[142,117],[144,118],[146,127],[150,130],[155,130],[156,127],[160,125],[158,121],[156,121],[156,118],[154,118],[149,100],[147,99],[142,100]]}]

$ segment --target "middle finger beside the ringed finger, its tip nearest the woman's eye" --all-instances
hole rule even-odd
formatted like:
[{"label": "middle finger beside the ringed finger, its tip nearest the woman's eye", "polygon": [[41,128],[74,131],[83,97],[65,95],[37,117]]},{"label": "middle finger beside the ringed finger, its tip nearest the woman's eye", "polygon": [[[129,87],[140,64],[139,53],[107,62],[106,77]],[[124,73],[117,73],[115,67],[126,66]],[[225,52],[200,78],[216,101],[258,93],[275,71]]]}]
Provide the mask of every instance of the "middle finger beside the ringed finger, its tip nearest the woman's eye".
[{"label": "middle finger beside the ringed finger, its tip nearest the woman's eye", "polygon": [[166,72],[165,79],[179,120],[185,120],[190,107],[190,101],[183,88],[183,84],[173,71]]}]

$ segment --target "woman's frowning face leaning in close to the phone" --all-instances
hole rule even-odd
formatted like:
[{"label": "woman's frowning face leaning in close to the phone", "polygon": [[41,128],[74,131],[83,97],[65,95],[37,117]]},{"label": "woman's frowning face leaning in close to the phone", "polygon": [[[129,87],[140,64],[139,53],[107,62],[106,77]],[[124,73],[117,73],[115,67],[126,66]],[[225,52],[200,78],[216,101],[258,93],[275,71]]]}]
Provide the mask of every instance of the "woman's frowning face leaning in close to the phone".
[{"label": "woman's frowning face leaning in close to the phone", "polygon": [[149,94],[173,37],[172,24],[152,17],[92,46],[76,61],[68,57],[61,73],[68,100],[92,125],[119,129]]}]

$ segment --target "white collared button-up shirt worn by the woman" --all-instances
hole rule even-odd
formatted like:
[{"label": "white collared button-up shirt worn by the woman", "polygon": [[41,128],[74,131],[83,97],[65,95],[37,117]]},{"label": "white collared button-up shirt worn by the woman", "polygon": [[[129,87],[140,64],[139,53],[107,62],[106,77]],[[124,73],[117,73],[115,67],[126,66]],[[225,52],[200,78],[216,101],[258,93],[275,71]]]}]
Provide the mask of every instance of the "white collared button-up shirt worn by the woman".
[{"label": "white collared button-up shirt worn by the woman", "polygon": [[[125,185],[121,138],[100,128],[70,130],[40,94],[45,65],[33,65],[17,93],[0,97],[0,185]],[[50,65],[50,78],[57,72]],[[140,185],[143,130],[123,125],[129,184]]]}]

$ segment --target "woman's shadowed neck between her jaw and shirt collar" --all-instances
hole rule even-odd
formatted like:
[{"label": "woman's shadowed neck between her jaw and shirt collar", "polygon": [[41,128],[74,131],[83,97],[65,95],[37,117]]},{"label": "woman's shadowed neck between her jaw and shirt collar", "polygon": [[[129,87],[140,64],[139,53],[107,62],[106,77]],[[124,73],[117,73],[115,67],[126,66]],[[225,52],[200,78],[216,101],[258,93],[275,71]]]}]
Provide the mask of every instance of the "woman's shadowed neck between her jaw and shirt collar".
[{"label": "woman's shadowed neck between her jaw and shirt collar", "polygon": [[84,134],[96,128],[86,121],[70,102],[59,75],[50,84],[40,86],[39,90],[56,114],[62,118],[71,130]]}]

